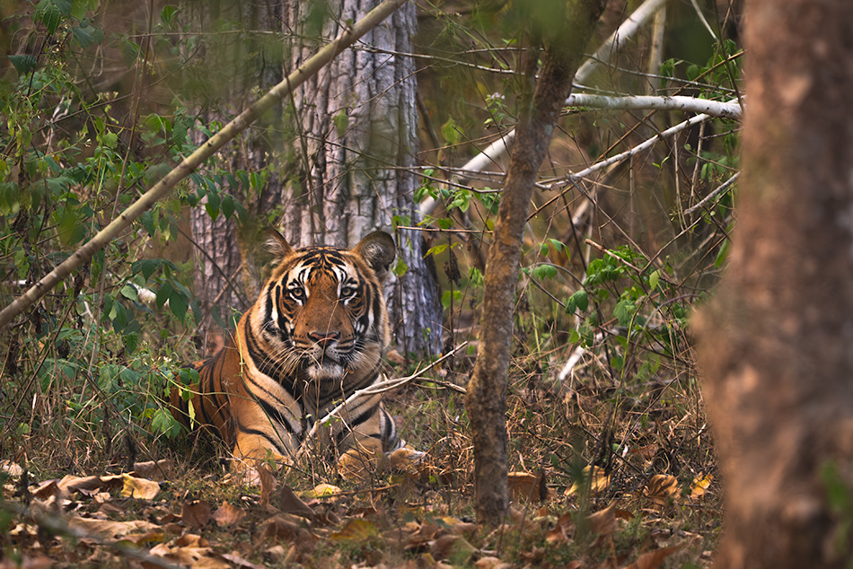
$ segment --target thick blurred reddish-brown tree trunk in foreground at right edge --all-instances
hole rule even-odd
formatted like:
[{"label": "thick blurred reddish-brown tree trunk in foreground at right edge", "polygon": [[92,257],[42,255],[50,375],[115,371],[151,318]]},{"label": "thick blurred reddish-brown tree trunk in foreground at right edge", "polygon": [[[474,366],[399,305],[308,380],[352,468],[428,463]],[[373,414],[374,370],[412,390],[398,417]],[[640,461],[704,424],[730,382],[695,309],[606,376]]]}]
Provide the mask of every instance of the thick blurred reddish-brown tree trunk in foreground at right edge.
[{"label": "thick blurred reddish-brown tree trunk in foreground at right edge", "polygon": [[853,554],[853,3],[747,4],[743,184],[697,318],[725,479],[717,566]]}]

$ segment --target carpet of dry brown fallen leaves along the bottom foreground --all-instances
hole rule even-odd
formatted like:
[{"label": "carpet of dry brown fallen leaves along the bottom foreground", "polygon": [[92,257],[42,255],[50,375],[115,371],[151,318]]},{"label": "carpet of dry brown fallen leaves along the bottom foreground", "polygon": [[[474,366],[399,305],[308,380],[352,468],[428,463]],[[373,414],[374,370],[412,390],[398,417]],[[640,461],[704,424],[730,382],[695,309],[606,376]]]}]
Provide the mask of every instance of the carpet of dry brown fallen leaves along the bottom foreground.
[{"label": "carpet of dry brown fallen leaves along the bottom foreground", "polygon": [[[145,468],[131,474],[64,477],[29,486],[30,506],[18,511],[5,546],[14,547],[22,562],[33,567],[84,561],[91,565],[94,560],[96,565],[129,562],[145,569],[253,568],[269,563],[509,569],[520,563],[519,558],[524,565],[553,565],[554,552],[593,551],[595,556],[578,554],[579,558],[566,554],[569,557],[560,558],[559,563],[575,569],[656,569],[681,547],[678,539],[673,543],[672,536],[655,538],[643,543],[631,558],[623,558],[625,554],[615,546],[616,536],[634,522],[635,515],[660,512],[675,500],[702,499],[713,479],[699,474],[682,488],[674,477],[655,475],[640,492],[646,510],[631,513],[611,503],[597,512],[581,513],[565,505],[565,496],[608,490],[611,477],[600,468],[585,468],[585,480],[560,493],[559,500],[545,473],[513,472],[508,478],[513,515],[504,527],[486,531],[470,521],[418,506],[400,505],[391,515],[382,504],[388,502],[394,485],[364,492],[319,485],[297,493],[279,486],[266,473],[269,476],[262,477],[259,495],[242,495],[237,505],[214,504],[164,497],[161,482],[154,478],[168,479],[171,465],[151,463]],[[10,483],[4,495],[21,495],[20,490]],[[405,502],[406,496],[402,493],[398,500]],[[136,519],[128,521],[128,517]],[[533,544],[529,550],[514,552],[515,565],[501,558],[501,544],[513,533],[518,543]],[[324,556],[319,564],[318,551]],[[606,559],[603,565],[602,558]],[[0,562],[0,569],[6,566],[13,565]]]}]

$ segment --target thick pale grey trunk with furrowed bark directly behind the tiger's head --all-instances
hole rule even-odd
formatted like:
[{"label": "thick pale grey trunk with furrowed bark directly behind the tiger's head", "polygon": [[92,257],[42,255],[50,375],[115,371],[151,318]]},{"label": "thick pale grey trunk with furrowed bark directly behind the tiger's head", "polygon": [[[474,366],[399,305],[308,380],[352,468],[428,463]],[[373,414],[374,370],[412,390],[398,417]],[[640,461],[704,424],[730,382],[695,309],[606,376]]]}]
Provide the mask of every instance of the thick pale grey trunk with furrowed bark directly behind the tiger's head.
[{"label": "thick pale grey trunk with furrowed bark directly behind the tiger's head", "polygon": [[[376,4],[330,2],[323,37],[336,36],[343,22],[357,21]],[[292,4],[291,22],[302,22],[307,9],[310,3]],[[295,93],[297,128],[303,135],[295,149],[302,156],[302,183],[283,196],[288,241],[352,246],[368,232],[389,230],[392,215],[405,216],[407,225],[417,223],[413,192],[418,177],[412,170],[417,83],[412,57],[401,55],[412,53],[415,26],[415,4],[404,4],[368,32],[358,48],[342,53]],[[315,48],[315,42],[295,48],[293,65]],[[435,352],[442,312],[435,274],[424,258],[425,242],[411,231],[398,231],[395,238],[408,267],[389,298],[398,346],[404,352]]]}]

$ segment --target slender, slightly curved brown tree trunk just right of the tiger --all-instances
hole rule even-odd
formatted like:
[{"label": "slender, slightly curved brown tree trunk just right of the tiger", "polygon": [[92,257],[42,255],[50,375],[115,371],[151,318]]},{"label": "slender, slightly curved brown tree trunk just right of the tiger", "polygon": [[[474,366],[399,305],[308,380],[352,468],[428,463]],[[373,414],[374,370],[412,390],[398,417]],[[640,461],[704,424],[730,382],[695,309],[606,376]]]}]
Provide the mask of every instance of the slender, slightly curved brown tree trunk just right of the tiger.
[{"label": "slender, slightly curved brown tree trunk just right of the tiger", "polygon": [[[477,363],[471,373],[466,408],[474,443],[474,490],[480,523],[503,521],[509,503],[506,462],[506,374],[513,338],[515,285],[521,263],[523,229],[527,221],[536,173],[557,127],[562,102],[584,48],[592,37],[606,2],[577,0],[566,4],[567,26],[542,54],[532,50],[525,70],[526,92],[515,127],[506,184],[492,242],[488,248],[483,314],[479,327]],[[537,58],[541,55],[539,79]],[[535,82],[535,86],[534,86]]]}]

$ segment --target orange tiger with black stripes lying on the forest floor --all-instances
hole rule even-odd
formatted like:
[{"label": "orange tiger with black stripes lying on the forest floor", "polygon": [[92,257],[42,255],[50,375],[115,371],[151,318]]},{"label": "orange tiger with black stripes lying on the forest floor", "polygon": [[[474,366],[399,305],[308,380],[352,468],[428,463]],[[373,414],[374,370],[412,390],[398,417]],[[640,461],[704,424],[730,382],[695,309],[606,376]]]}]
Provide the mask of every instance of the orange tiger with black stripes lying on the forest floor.
[{"label": "orange tiger with black stripes lying on the forest floor", "polygon": [[[272,230],[272,274],[243,315],[229,345],[192,364],[194,422],[221,438],[242,465],[292,463],[315,421],[383,375],[391,328],[383,284],[396,256],[386,232],[352,249],[293,249]],[[171,390],[188,426],[189,402]],[[332,440],[339,467],[376,465],[406,443],[380,394],[357,398],[339,413]]]}]

